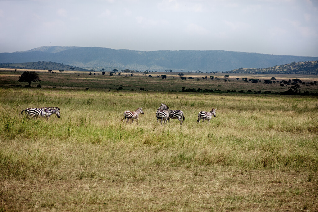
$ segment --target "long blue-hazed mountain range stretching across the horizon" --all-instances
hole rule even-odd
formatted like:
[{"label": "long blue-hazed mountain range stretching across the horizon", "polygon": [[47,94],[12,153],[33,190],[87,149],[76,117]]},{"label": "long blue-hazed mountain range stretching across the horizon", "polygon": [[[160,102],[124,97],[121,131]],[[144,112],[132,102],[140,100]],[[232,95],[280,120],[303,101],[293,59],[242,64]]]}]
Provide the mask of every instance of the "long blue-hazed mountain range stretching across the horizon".
[{"label": "long blue-hazed mountain range stretching across the horizon", "polygon": [[267,68],[300,61],[314,61],[318,57],[269,55],[236,51],[133,51],[100,47],[42,46],[29,51],[0,53],[0,63],[52,61],[86,69],[111,71],[231,71],[240,67]]}]

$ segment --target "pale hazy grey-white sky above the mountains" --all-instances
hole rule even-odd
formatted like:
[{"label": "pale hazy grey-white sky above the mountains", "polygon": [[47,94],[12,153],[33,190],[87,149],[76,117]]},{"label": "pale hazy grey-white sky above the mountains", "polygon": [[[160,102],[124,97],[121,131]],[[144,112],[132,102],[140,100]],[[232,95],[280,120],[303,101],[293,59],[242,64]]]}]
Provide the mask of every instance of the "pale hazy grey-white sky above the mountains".
[{"label": "pale hazy grey-white sky above the mountains", "polygon": [[0,52],[40,46],[318,56],[318,0],[0,0]]}]

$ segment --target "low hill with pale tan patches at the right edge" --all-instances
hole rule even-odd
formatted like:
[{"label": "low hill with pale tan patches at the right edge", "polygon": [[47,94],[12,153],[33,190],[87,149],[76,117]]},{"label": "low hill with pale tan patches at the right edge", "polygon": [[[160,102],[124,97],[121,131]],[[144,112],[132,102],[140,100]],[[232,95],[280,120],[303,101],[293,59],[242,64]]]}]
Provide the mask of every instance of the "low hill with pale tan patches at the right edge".
[{"label": "low hill with pale tan patches at the right edge", "polygon": [[275,65],[270,68],[239,68],[228,73],[249,74],[318,74],[318,60],[307,62],[292,62],[285,65]]}]

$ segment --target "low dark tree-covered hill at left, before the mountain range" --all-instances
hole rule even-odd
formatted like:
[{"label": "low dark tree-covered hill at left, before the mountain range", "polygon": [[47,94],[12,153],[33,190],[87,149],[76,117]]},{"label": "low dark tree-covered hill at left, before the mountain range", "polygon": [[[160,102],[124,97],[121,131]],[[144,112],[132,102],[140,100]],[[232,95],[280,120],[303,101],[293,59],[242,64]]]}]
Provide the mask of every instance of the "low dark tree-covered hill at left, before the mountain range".
[{"label": "low dark tree-covered hill at left, before the mountain range", "polygon": [[87,69],[79,68],[72,65],[65,65],[55,62],[28,62],[28,63],[0,63],[0,68],[15,68],[15,69],[40,69],[40,70],[72,70],[74,71],[88,71]]}]

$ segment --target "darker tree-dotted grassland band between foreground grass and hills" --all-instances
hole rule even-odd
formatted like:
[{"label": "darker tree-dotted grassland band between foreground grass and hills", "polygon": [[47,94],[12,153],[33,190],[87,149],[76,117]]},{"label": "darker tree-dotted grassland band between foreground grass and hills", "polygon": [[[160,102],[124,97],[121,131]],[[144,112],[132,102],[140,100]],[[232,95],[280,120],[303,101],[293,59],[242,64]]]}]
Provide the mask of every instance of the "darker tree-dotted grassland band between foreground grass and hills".
[{"label": "darker tree-dotted grassland band between foreground grass and hills", "polygon": [[[0,86],[2,87],[12,87],[16,85],[27,85],[27,83],[18,82],[19,76],[25,70],[18,70],[15,72],[12,69],[0,69]],[[27,70],[30,71],[30,70]],[[73,71],[65,71],[63,73],[49,73],[47,70],[41,71],[36,70],[40,77],[40,82],[32,83],[31,85],[36,87],[38,84],[41,84],[42,88],[73,88],[73,89],[97,89],[97,90],[110,90],[110,89],[118,89],[122,87],[123,90],[140,90],[140,88],[144,88],[148,91],[181,91],[182,87],[188,88],[201,88],[201,89],[213,89],[213,90],[221,90],[226,92],[227,90],[235,90],[236,92],[242,90],[247,92],[248,90],[252,91],[271,91],[273,92],[284,92],[287,91],[288,88],[292,85],[288,86],[280,86],[280,83],[273,84],[265,84],[265,79],[271,79],[272,77],[276,78],[276,81],[286,80],[288,79],[301,79],[303,82],[306,82],[306,85],[300,84],[301,92],[310,92],[315,93],[318,92],[318,85],[310,85],[308,82],[317,81],[317,76],[315,75],[290,75],[290,74],[229,74],[228,78],[230,81],[224,81],[225,73],[184,73],[186,78],[193,77],[194,79],[186,79],[181,80],[177,75],[178,73],[158,73],[158,72],[150,72],[152,78],[149,78],[147,74],[142,75],[142,73],[134,73],[133,77],[127,76],[125,73],[122,73],[121,76],[109,76],[108,72],[105,76],[101,75],[101,72],[92,72],[90,76],[88,72],[73,72]],[[167,79],[157,78],[157,75],[167,75]],[[79,76],[78,76],[79,75]],[[207,76],[207,79],[202,79],[202,77]],[[211,80],[210,76],[214,76],[218,79]],[[248,79],[260,79],[262,80],[259,83],[249,83],[242,80],[242,78]],[[236,78],[239,78],[237,80]],[[200,80],[197,80],[200,79]]]}]

